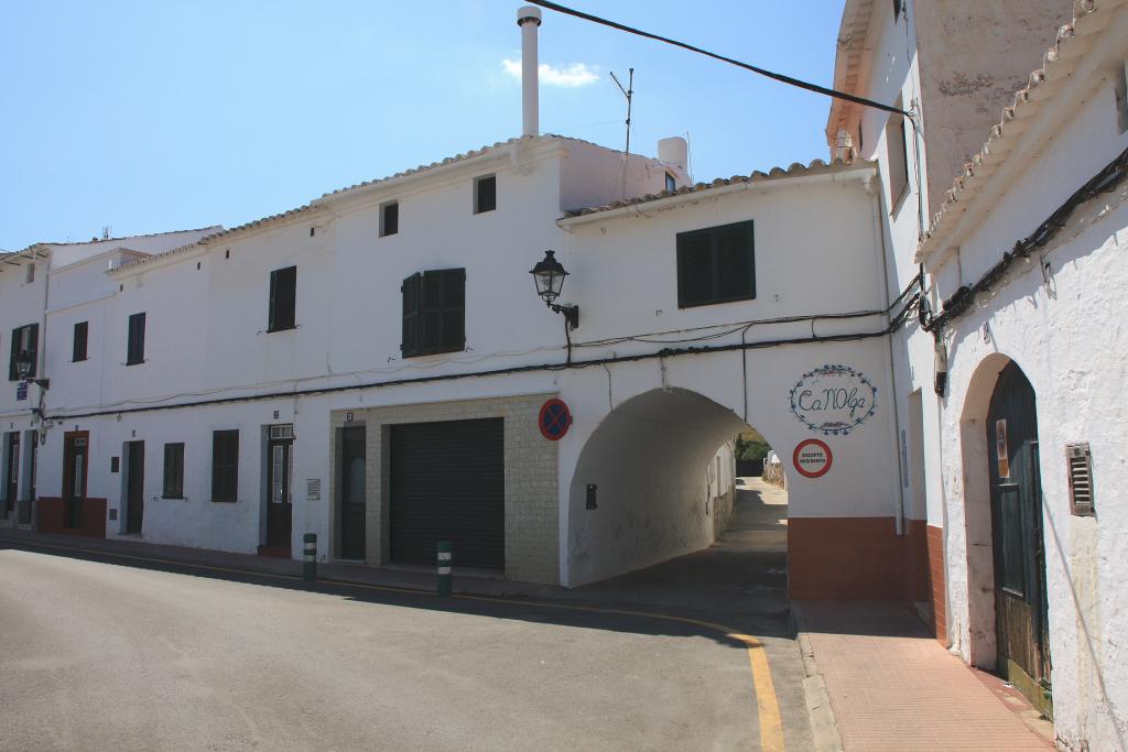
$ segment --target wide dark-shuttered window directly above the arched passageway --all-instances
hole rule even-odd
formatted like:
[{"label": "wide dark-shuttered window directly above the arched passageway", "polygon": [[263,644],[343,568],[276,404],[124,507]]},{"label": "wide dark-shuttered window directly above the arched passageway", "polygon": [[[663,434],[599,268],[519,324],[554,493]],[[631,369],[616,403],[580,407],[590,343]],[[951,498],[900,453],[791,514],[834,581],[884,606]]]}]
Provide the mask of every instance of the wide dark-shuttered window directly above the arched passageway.
[{"label": "wide dark-shuttered window directly above the arched passageway", "polygon": [[752,222],[678,233],[678,308],[756,298]]}]

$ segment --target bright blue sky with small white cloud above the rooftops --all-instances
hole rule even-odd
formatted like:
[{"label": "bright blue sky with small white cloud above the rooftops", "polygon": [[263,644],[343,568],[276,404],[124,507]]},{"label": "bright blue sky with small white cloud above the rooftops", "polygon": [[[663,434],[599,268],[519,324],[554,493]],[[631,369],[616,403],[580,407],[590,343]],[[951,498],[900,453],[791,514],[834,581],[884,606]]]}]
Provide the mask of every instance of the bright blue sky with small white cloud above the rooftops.
[{"label": "bright blue sky with small white cloud above the rooftops", "polygon": [[[5,2],[0,249],[243,222],[519,135],[510,0]],[[830,85],[843,0],[564,5]],[[826,158],[829,100],[544,11],[540,127],[696,179]],[[505,61],[511,61],[506,65]]]}]

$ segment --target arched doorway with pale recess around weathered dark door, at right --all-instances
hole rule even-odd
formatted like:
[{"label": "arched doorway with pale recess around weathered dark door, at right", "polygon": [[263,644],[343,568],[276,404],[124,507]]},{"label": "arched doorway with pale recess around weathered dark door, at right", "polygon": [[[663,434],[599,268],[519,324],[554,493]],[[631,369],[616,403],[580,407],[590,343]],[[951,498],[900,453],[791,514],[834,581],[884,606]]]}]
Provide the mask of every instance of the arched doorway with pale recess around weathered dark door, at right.
[{"label": "arched doorway with pale recess around weathered dark door, at right", "polygon": [[979,364],[960,421],[970,658],[1048,711],[1046,560],[1033,386],[1011,359]]}]

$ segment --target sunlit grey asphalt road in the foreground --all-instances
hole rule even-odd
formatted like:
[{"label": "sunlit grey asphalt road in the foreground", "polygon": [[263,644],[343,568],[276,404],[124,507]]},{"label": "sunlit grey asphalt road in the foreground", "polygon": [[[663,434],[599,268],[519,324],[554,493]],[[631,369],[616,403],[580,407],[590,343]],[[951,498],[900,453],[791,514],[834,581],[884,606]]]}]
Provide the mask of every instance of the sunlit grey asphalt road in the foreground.
[{"label": "sunlit grey asphalt road in the foreground", "polygon": [[[0,749],[760,749],[743,644],[569,604],[0,550]],[[807,749],[794,644],[765,644]]]}]

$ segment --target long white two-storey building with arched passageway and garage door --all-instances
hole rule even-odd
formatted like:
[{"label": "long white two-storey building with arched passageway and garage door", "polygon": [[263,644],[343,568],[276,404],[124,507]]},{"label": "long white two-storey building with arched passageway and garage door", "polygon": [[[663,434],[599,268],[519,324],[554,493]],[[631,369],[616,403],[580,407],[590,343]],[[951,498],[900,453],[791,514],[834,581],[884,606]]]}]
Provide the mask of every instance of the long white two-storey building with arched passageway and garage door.
[{"label": "long white two-storey building with arched passageway and garage door", "polygon": [[[161,247],[53,248],[39,530],[280,556],[312,532],[373,565],[450,539],[572,586],[712,542],[752,423],[812,468],[792,592],[898,594],[874,166],[690,186],[685,143],[659,151],[530,133]],[[530,283],[547,249],[578,328]]]}]

